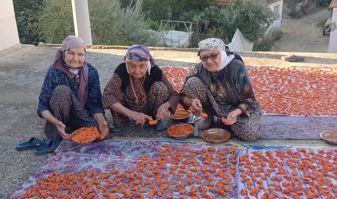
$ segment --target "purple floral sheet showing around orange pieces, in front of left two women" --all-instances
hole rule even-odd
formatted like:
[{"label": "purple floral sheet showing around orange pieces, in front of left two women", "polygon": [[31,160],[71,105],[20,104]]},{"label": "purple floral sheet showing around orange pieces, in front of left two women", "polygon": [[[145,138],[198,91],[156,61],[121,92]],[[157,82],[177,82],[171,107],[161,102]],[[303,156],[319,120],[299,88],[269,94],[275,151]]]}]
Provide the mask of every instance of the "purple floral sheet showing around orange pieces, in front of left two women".
[{"label": "purple floral sheet showing around orange pieces, in front of left two women", "polygon": [[[128,170],[128,169],[136,169],[139,165],[137,162],[142,161],[140,159],[141,156],[150,155],[150,159],[155,159],[157,157],[161,157],[161,153],[157,152],[158,148],[162,148],[163,150],[167,150],[167,148],[162,147],[163,144],[173,145],[176,148],[179,146],[182,152],[186,153],[188,148],[192,148],[194,151],[202,150],[202,148],[208,148],[207,145],[197,145],[191,144],[190,142],[186,142],[188,144],[187,147],[182,147],[182,142],[171,142],[171,141],[138,141],[138,140],[105,140],[101,142],[94,142],[90,145],[80,145],[74,142],[63,141],[60,146],[55,150],[55,152],[41,165],[36,173],[32,175],[21,187],[14,192],[9,199],[19,199],[29,188],[33,188],[36,185],[37,180],[41,180],[52,174],[53,172],[57,171],[59,174],[67,174],[68,172],[79,173],[79,172],[89,172],[89,171],[97,171],[98,173],[101,172],[109,172],[114,169],[119,170]],[[222,150],[225,154],[227,154],[227,160],[231,159],[231,155],[228,154],[227,151],[224,151],[226,148],[224,146],[216,146],[216,150]],[[234,150],[232,152],[233,155],[237,157],[239,150]],[[176,154],[174,151],[172,154]],[[216,153],[214,152],[214,157]],[[197,162],[200,164],[198,171],[195,174],[202,175],[200,167],[205,165],[207,167],[214,167],[213,164],[206,165],[204,164],[204,159],[200,157],[201,155],[196,156],[195,158],[184,157],[183,160],[192,160],[196,159]],[[171,154],[168,156],[168,160],[171,160]],[[224,168],[224,174],[228,174],[227,171],[228,166],[232,163],[227,161],[226,164],[221,165],[220,168]],[[156,162],[155,162],[156,163]],[[147,163],[148,164],[148,163]],[[180,163],[181,164],[181,163]],[[232,164],[235,165],[235,164]],[[144,166],[144,168],[147,165]],[[187,180],[186,174],[182,174],[181,178],[178,178],[176,175],[172,175],[170,173],[170,166],[171,163],[166,163],[167,169],[159,169],[160,173],[167,174],[166,177],[162,179],[171,181],[178,181],[177,185],[174,187],[178,188],[178,185],[181,182],[185,182]],[[193,165],[186,165],[187,168],[194,167]],[[218,170],[218,169],[217,169]],[[146,170],[146,172],[148,172]],[[177,170],[178,173],[178,170]],[[143,179],[146,178],[145,173],[143,174]],[[226,197],[222,197],[215,192],[208,192],[208,195],[213,196],[213,198],[238,198],[238,189],[237,189],[237,172],[234,172],[233,175],[228,174],[231,176],[231,181],[229,185],[226,187],[230,187],[230,191],[227,192]],[[111,175],[112,177],[112,175]],[[194,178],[195,179],[195,178]],[[133,179],[134,180],[134,179]],[[153,183],[154,178],[151,177],[149,183]],[[214,185],[218,180],[224,180],[223,178],[217,176],[215,180],[212,182]],[[122,178],[121,183],[130,182],[132,180],[127,180],[126,178]],[[200,189],[201,185],[205,185],[209,181],[207,178],[202,179],[202,184],[197,185],[195,184],[196,180],[194,180],[194,184],[192,184],[195,188]],[[103,182],[100,184],[101,187],[104,186]],[[114,184],[113,184],[114,185]],[[113,186],[112,185],[112,186]],[[191,185],[191,186],[192,186]],[[156,184],[156,189],[159,189],[159,184]],[[186,194],[180,195],[179,192],[173,192],[170,188],[164,190],[164,194],[171,193],[173,198],[179,198],[180,196],[186,196],[187,198],[191,198],[191,196],[187,195],[187,192],[190,190],[191,186],[188,186],[185,183]],[[111,187],[109,187],[111,188]],[[141,187],[140,187],[141,188]],[[146,188],[146,187],[145,187]],[[94,188],[96,189],[96,188]],[[146,188],[147,189],[147,188]],[[150,190],[150,189],[147,189]],[[208,188],[207,188],[208,190]],[[216,185],[214,186],[214,190],[216,190]],[[67,194],[67,190],[62,190]],[[151,191],[151,190],[150,190]],[[57,191],[59,194],[60,190]],[[137,192],[135,192],[137,193]],[[113,194],[112,194],[113,195]],[[122,194],[120,194],[122,196]],[[143,193],[144,198],[147,198],[147,193]],[[37,198],[37,197],[36,197]],[[49,197],[51,198],[51,197]],[[102,198],[102,194],[99,193],[94,199]],[[104,197],[103,197],[104,198]],[[135,195],[133,197],[135,198]],[[155,196],[154,198],[160,198]]]}]

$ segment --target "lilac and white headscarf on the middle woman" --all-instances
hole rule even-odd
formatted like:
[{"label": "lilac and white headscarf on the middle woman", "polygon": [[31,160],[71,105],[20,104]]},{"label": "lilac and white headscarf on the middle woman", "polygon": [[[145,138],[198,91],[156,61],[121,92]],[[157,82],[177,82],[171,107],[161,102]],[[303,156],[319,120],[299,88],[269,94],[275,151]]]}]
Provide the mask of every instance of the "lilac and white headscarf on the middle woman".
[{"label": "lilac and white headscarf on the middle woman", "polygon": [[[133,45],[129,47],[124,56],[124,60],[130,60],[134,62],[147,62],[147,70],[149,74],[151,67],[156,65],[155,60],[150,55],[150,49],[145,45]],[[126,70],[129,73],[128,64],[126,64]]]}]

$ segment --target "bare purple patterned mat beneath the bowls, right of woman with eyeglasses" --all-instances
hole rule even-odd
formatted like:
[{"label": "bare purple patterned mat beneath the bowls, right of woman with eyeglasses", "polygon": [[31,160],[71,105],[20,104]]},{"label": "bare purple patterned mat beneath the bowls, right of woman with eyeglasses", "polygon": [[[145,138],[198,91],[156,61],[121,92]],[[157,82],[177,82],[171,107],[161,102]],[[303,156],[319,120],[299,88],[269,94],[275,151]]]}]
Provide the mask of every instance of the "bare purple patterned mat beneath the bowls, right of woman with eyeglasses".
[{"label": "bare purple patterned mat beneath the bowls, right of woman with eyeglasses", "polygon": [[[191,121],[190,117],[185,123]],[[200,121],[200,120],[199,120]],[[233,131],[227,126],[219,126],[219,119],[215,117],[213,127],[222,128],[231,132],[231,137],[236,137]],[[323,131],[337,129],[337,117],[299,117],[286,115],[262,115],[261,117],[262,137],[259,139],[304,139],[320,140],[319,134]],[[195,123],[194,128],[197,126]],[[202,130],[195,128],[201,137]]]}]

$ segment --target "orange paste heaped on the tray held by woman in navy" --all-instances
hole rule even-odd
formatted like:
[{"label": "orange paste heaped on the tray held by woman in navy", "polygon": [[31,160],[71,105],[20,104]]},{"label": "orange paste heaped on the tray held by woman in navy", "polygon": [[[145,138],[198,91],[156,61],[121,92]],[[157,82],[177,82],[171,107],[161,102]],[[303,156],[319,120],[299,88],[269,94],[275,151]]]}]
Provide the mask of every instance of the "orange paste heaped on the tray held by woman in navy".
[{"label": "orange paste heaped on the tray held by woman in navy", "polygon": [[82,127],[72,134],[70,140],[81,144],[88,143],[100,137],[100,133],[96,127]]}]

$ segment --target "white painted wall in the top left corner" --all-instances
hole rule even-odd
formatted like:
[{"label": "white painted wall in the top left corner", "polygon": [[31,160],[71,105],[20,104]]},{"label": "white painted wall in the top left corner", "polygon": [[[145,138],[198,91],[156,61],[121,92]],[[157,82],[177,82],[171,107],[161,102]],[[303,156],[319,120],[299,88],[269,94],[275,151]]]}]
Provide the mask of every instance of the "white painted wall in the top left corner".
[{"label": "white painted wall in the top left corner", "polygon": [[0,51],[20,43],[12,0],[0,3]]}]

